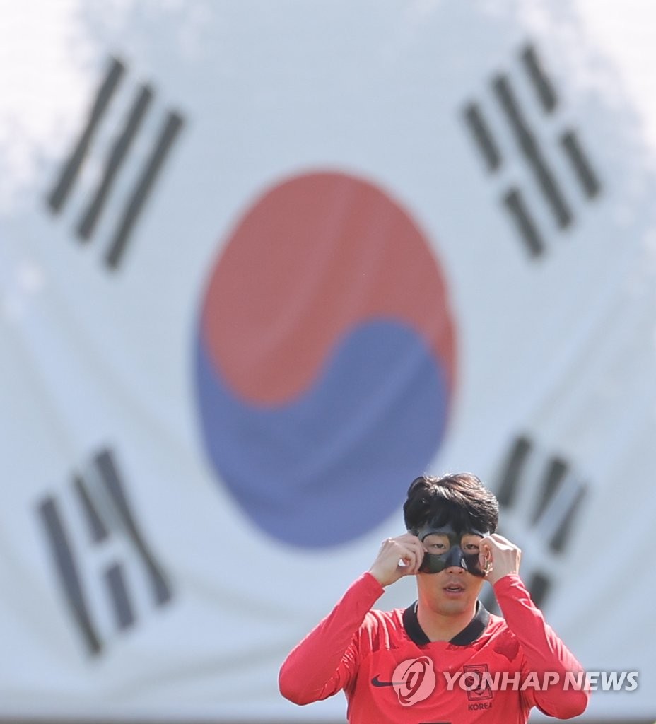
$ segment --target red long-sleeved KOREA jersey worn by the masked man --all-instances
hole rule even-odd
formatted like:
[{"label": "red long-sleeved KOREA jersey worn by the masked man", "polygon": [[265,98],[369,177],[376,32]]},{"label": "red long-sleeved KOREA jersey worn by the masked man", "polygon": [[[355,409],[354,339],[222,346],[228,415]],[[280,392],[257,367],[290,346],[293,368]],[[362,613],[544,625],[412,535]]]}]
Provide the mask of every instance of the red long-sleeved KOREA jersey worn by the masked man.
[{"label": "red long-sleeved KOREA jersey worn by the masked man", "polygon": [[371,610],[382,593],[363,573],[293,649],[279,675],[287,699],[309,704],[343,689],[350,724],[525,724],[531,707],[560,719],[585,710],[581,665],[519,576],[495,584],[504,618],[478,602],[450,641],[429,641],[416,604]]}]

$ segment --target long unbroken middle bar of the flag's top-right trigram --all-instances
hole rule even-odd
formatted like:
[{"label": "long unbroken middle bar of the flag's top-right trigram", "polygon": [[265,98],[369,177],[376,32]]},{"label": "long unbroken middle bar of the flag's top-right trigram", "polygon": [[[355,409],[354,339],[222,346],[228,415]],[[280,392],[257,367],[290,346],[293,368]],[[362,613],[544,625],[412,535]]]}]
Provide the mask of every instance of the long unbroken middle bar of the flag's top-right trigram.
[{"label": "long unbroken middle bar of the flag's top-right trigram", "polygon": [[510,87],[510,80],[503,74],[497,75],[494,82],[497,99],[505,112],[510,127],[513,129],[518,146],[529,164],[529,168],[536,178],[544,198],[552,209],[556,222],[561,229],[568,227],[572,222],[572,214],[565,201],[563,193],[558,188],[547,161],[542,156],[539,143],[526,123],[521,109]]}]

